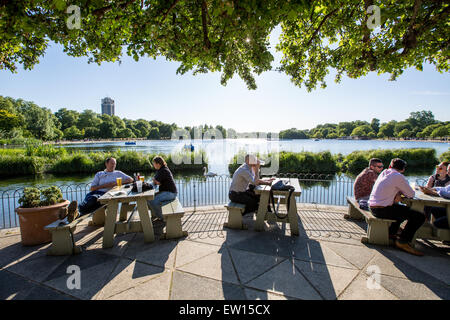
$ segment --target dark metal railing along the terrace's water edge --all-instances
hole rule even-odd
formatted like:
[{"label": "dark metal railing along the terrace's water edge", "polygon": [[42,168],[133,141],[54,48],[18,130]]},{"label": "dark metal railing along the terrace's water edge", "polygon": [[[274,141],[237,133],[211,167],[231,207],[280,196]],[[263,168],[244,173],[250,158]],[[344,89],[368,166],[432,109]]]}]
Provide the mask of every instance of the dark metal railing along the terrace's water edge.
[{"label": "dark metal railing along the terrace's water edge", "polygon": [[[279,174],[279,177],[299,179],[302,194],[296,197],[298,203],[318,203],[327,205],[346,205],[346,196],[353,195],[354,180],[348,177],[323,174]],[[178,198],[183,207],[194,208],[228,203],[228,190],[231,178],[227,175],[216,177],[196,177],[177,179]],[[48,186],[39,186],[43,189]],[[58,185],[66,200],[83,201],[90,191],[90,184],[80,183]],[[17,227],[18,217],[15,209],[24,188],[0,191],[0,229]]]}]

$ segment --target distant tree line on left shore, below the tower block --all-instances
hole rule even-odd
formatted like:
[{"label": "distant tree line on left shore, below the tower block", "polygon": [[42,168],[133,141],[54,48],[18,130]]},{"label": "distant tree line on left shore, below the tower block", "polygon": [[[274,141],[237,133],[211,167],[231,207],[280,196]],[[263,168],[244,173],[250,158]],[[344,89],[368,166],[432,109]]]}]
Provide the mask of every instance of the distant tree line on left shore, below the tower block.
[{"label": "distant tree line on left shore, below the tower block", "polygon": [[[61,108],[52,113],[33,102],[0,96],[0,139],[35,138],[39,140],[81,140],[111,138],[170,139],[175,130],[185,129],[192,138],[195,133],[203,136],[220,131],[226,138],[222,126],[200,125],[179,128],[156,120],[130,120],[118,116],[98,114],[92,110],[77,112]],[[195,129],[197,129],[195,131]],[[183,131],[186,132],[186,131]],[[218,134],[212,134],[218,136]],[[216,137],[219,138],[219,137]]]}]

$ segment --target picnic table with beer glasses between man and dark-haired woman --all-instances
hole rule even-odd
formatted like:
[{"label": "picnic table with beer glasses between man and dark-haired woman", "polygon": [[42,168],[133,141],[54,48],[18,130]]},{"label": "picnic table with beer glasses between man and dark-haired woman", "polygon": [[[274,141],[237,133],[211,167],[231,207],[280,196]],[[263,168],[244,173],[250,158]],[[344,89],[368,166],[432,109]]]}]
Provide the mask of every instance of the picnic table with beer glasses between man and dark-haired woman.
[{"label": "picnic table with beer glasses between man and dark-haired woman", "polygon": [[[106,204],[106,216],[105,216],[105,229],[103,231],[103,248],[111,248],[114,244],[114,235],[116,233],[124,232],[139,232],[140,230],[129,231],[127,228],[127,213],[133,210],[134,204],[137,203],[137,211],[139,213],[140,221],[137,222],[139,227],[144,232],[144,241],[152,242],[155,240],[153,232],[153,224],[150,219],[150,214],[147,206],[147,201],[155,198],[155,190],[148,190],[145,192],[137,193],[131,192],[131,188],[125,188],[125,186],[114,187],[107,193],[102,195],[98,201],[101,204]],[[117,214],[120,208],[120,219],[117,222]]]}]

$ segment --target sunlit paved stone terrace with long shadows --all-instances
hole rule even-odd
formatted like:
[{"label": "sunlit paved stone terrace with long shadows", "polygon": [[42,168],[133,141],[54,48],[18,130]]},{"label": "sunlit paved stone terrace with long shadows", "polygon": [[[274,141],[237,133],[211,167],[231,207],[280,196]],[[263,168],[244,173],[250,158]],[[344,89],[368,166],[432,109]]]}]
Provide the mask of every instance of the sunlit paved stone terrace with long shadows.
[{"label": "sunlit paved stone terrace with long shadows", "polygon": [[[223,229],[223,206],[187,211],[189,236],[177,241],[145,244],[142,233],[126,234],[104,250],[103,228],[83,224],[76,256],[46,256],[49,244],[23,247],[18,229],[1,230],[0,298],[450,299],[449,247],[418,241],[426,256],[416,257],[365,245],[366,224],[345,220],[346,207],[298,207],[299,237],[281,223],[255,232],[252,215],[249,230]],[[81,269],[79,290],[67,288],[70,265]],[[381,272],[378,289],[368,288],[370,266]]]}]

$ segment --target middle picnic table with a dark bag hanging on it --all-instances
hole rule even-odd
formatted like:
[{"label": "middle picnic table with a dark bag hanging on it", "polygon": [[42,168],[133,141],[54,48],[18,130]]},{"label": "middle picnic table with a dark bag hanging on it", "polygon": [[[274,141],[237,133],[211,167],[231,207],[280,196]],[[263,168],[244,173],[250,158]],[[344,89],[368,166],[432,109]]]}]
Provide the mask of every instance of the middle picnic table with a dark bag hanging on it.
[{"label": "middle picnic table with a dark bag hanging on it", "polygon": [[[258,213],[256,215],[256,223],[255,223],[255,230],[256,231],[263,231],[264,230],[264,221],[267,220],[269,222],[284,222],[284,223],[290,223],[291,225],[291,235],[299,235],[299,228],[298,228],[298,214],[297,214],[297,203],[295,201],[295,197],[298,197],[302,193],[302,189],[300,187],[300,183],[298,182],[298,179],[295,178],[281,178],[277,179],[272,182],[272,184],[275,184],[277,181],[283,180],[287,181],[289,185],[294,186],[295,190],[292,193],[290,204],[289,204],[289,211],[288,216],[284,219],[278,218],[273,212],[267,211],[267,206],[269,205],[269,197],[270,197],[270,189],[271,186],[268,185],[259,185],[255,188],[255,193],[261,195],[259,206],[258,206]],[[287,198],[289,196],[289,191],[273,191],[274,198],[280,197],[280,203],[286,204]]]}]

